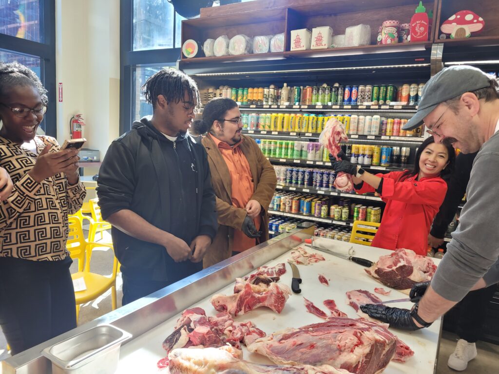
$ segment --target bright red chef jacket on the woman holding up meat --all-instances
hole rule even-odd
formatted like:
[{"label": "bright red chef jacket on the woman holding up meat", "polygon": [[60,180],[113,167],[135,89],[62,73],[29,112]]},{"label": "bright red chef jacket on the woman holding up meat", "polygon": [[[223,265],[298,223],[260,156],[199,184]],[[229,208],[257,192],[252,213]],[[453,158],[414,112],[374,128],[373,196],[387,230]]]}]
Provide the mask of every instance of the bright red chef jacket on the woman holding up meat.
[{"label": "bright red chef jacket on the woman holding up meat", "polygon": [[[386,206],[372,246],[391,250],[407,248],[426,256],[428,234],[433,218],[444,201],[447,184],[440,177],[417,181],[413,176],[399,181],[402,173],[376,175],[383,178],[381,199]],[[364,183],[356,191],[366,193],[375,189]]]}]

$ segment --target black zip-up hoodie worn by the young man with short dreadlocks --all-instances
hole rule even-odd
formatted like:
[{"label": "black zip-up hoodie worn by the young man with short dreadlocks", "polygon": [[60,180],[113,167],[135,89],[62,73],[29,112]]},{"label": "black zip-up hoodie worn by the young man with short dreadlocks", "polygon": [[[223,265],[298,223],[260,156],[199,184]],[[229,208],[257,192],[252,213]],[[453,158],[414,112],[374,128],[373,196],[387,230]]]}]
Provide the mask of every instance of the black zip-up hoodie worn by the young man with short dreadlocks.
[{"label": "black zip-up hoodie worn by the young man with short dreadlocks", "polygon": [[[205,149],[189,136],[168,140],[150,117],[134,122],[131,131],[111,143],[99,170],[97,195],[103,219],[130,209],[188,245],[198,235],[213,239],[217,233],[215,193]],[[147,269],[158,281],[190,275],[177,274],[185,267],[176,264],[161,245],[136,239],[116,227],[111,234],[122,271]]]}]

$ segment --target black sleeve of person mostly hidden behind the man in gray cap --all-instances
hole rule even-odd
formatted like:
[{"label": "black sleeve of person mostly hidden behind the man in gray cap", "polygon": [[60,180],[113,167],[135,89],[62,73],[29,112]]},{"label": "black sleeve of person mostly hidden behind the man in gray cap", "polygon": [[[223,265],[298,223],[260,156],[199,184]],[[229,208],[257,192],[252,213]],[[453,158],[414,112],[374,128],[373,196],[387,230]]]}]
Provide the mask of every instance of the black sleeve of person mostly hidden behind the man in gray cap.
[{"label": "black sleeve of person mostly hidden behind the man in gray cap", "polygon": [[470,181],[470,173],[473,167],[476,153],[464,154],[460,153],[456,158],[455,171],[452,173],[447,184],[447,193],[444,202],[440,206],[440,210],[433,220],[430,234],[436,238],[443,238],[447,231],[447,227],[454,219],[458,206],[463,200],[466,192],[466,187]]}]

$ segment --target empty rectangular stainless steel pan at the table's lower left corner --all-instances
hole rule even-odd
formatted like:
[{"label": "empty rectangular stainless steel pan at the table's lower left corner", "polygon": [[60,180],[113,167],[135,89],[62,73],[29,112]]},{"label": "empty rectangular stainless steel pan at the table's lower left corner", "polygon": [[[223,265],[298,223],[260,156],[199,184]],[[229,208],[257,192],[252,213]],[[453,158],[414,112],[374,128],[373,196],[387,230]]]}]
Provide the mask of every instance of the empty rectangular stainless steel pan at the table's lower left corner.
[{"label": "empty rectangular stainless steel pan at the table's lower left corner", "polygon": [[52,362],[53,374],[112,374],[121,343],[131,337],[117,327],[100,325],[45,348],[42,355]]}]

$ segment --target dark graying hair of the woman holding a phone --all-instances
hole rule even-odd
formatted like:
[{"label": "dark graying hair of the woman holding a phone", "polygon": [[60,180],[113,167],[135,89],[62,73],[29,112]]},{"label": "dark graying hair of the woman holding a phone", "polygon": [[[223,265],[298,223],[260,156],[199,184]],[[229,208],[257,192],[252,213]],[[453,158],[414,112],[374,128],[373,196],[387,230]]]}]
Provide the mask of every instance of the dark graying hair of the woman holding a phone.
[{"label": "dark graying hair of the woman holding a phone", "polygon": [[0,96],[5,95],[8,87],[28,85],[36,88],[40,94],[41,102],[47,105],[47,90],[33,70],[17,62],[0,62]]}]

